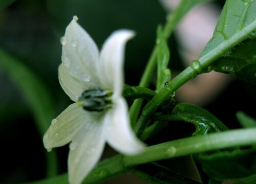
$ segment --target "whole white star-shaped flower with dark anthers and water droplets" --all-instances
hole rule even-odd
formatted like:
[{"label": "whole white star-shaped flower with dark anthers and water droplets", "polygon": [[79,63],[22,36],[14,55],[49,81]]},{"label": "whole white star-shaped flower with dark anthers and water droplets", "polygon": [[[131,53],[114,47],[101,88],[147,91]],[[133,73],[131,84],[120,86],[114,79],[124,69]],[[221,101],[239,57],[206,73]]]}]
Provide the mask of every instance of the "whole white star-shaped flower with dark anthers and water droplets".
[{"label": "whole white star-shaped flower with dark anthers and water droplets", "polygon": [[[136,154],[144,144],[133,133],[122,97],[124,47],[134,33],[114,32],[99,53],[74,16],[61,38],[59,82],[71,104],[52,121],[44,135],[48,151],[70,143],[70,183],[81,183],[98,162],[105,142],[123,154]],[[85,110],[86,109],[86,110]]]}]

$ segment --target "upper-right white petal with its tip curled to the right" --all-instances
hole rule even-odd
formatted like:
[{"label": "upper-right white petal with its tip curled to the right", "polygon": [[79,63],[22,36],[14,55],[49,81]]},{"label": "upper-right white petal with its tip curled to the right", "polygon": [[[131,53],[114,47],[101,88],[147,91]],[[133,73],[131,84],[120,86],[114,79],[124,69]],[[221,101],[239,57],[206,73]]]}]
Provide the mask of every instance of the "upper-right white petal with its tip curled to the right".
[{"label": "upper-right white petal with its tip curled to the right", "polygon": [[133,31],[119,30],[103,44],[100,53],[100,80],[104,88],[113,90],[114,95],[120,96],[123,87],[124,47],[127,40],[134,36]]}]

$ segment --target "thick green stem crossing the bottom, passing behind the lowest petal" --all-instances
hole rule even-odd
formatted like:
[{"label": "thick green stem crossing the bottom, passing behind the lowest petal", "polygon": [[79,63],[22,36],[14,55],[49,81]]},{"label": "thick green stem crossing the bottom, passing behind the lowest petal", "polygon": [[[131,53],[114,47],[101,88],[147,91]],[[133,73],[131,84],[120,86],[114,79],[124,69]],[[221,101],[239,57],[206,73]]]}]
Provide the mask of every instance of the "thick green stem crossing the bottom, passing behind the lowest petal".
[{"label": "thick green stem crossing the bottom, passing behind the lowest petal", "polygon": [[[103,160],[89,173],[83,183],[98,183],[116,175],[129,172],[133,166],[155,162],[157,160],[255,144],[256,128],[229,130],[195,137],[186,137],[180,140],[147,147],[143,152],[137,155],[117,155],[110,159]],[[51,184],[67,183],[67,181],[68,176],[66,174],[57,176],[55,179],[51,178],[32,183]]]}]

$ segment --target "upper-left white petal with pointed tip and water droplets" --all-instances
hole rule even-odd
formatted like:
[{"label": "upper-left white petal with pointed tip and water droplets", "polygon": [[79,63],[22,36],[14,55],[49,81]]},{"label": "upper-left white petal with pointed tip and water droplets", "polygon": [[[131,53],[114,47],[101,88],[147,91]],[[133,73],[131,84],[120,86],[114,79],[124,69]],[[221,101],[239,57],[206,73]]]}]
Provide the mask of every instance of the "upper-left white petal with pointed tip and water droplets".
[{"label": "upper-left white petal with pointed tip and water droplets", "polygon": [[63,65],[78,80],[99,86],[98,64],[99,51],[90,35],[77,24],[74,17],[61,38]]}]

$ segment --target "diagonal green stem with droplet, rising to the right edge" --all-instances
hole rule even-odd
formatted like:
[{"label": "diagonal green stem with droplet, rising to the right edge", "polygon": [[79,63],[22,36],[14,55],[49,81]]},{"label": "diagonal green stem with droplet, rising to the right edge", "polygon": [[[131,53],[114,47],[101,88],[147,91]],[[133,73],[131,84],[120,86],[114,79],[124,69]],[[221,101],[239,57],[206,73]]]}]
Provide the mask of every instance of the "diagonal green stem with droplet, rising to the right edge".
[{"label": "diagonal green stem with droplet, rising to the right edge", "polygon": [[[140,137],[143,133],[146,125],[146,122],[151,118],[152,114],[156,109],[189,79],[197,76],[200,71],[205,67],[209,66],[213,61],[218,59],[223,53],[233,48],[235,45],[243,41],[248,34],[250,34],[256,27],[256,20],[250,25],[245,27],[242,31],[234,34],[221,44],[219,44],[215,49],[212,49],[210,52],[206,53],[198,60],[193,61],[190,66],[188,66],[184,71],[177,75],[172,81],[170,81],[165,88],[162,88],[159,93],[148,102],[142,110],[141,116],[136,123],[135,132]],[[193,63],[196,62],[195,65]],[[195,67],[196,66],[196,67]]]}]

